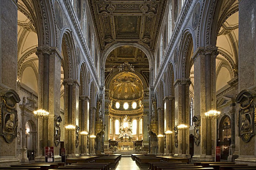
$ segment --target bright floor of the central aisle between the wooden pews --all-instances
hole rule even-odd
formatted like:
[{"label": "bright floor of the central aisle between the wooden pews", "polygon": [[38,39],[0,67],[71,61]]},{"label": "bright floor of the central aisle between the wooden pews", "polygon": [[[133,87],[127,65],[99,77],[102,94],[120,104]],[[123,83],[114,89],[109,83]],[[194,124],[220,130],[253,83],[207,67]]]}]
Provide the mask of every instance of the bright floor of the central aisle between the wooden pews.
[{"label": "bright floor of the central aisle between the wooden pews", "polygon": [[148,167],[140,168],[131,157],[122,157],[119,160],[119,164],[116,166],[115,170],[148,170]]}]

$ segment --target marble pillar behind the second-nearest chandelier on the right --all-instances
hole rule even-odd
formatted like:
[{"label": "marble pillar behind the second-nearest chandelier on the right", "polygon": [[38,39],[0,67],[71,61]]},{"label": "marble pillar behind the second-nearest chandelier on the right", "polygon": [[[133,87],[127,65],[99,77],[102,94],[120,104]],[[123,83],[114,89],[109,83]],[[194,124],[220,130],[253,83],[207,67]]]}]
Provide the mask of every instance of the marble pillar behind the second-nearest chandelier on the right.
[{"label": "marble pillar behind the second-nearest chandelier on the right", "polygon": [[[175,87],[175,125],[189,125],[189,85],[190,79],[177,79]],[[189,128],[178,130],[178,147],[175,156],[190,157]]]}]

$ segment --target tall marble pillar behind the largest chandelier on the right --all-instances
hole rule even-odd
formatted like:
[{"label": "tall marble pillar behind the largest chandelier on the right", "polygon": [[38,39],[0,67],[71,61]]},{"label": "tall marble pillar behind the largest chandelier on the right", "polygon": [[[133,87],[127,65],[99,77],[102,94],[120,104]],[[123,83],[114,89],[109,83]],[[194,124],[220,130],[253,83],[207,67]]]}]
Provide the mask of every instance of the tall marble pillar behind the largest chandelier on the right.
[{"label": "tall marble pillar behind the largest chandelier on the right", "polygon": [[215,60],[216,47],[198,47],[194,53],[194,113],[201,118],[201,138],[194,145],[193,160],[214,161],[216,120],[205,119],[205,112],[216,109]]}]

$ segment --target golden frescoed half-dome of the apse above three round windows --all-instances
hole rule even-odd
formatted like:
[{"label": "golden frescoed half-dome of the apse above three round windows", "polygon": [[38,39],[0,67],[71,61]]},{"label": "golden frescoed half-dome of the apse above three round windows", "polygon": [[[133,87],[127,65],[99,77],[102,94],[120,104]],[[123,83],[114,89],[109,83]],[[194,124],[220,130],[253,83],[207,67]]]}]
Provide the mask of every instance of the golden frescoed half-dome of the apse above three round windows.
[{"label": "golden frescoed half-dome of the apse above three round windows", "polygon": [[109,96],[114,100],[138,100],[143,96],[141,79],[133,73],[119,73],[110,82]]}]

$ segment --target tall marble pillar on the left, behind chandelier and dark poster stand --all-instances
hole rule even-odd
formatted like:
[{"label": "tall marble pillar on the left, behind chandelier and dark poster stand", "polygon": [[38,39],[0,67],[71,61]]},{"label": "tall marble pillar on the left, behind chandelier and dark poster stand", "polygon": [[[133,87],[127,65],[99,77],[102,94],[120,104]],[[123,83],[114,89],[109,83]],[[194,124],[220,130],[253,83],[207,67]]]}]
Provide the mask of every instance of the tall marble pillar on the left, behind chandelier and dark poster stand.
[{"label": "tall marble pillar on the left, behind chandelier and dark poster stand", "polygon": [[60,74],[61,54],[55,47],[43,45],[37,47],[38,56],[38,108],[49,112],[47,119],[38,119],[38,139],[39,143],[36,161],[44,161],[44,147],[54,146],[54,158],[61,160],[59,156],[59,146],[54,144],[54,117],[60,114]]}]

